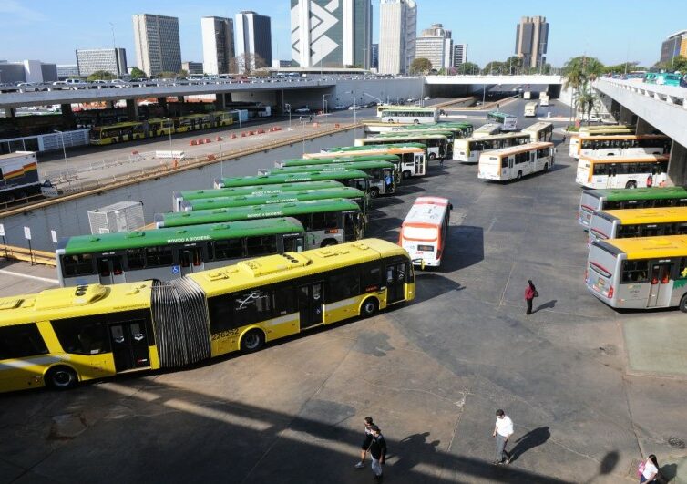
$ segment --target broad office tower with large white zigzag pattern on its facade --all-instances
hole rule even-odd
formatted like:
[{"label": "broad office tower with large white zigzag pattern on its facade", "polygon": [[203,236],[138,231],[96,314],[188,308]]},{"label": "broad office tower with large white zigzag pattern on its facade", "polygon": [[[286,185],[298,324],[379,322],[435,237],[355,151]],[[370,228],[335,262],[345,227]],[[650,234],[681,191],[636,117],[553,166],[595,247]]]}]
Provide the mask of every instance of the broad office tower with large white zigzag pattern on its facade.
[{"label": "broad office tower with large white zigzag pattern on its facade", "polygon": [[370,0],[291,0],[294,67],[370,67]]}]

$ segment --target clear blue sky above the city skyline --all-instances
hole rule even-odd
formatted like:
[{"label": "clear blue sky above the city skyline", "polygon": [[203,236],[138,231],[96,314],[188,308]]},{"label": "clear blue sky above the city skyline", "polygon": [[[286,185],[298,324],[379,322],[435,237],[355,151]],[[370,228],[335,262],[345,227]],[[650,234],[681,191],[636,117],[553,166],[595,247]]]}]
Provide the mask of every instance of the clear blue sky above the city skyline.
[{"label": "clear blue sky above the city skyline", "polygon": [[[586,53],[604,64],[626,60],[651,66],[661,42],[687,29],[683,0],[416,0],[417,30],[443,23],[454,42],[467,43],[468,61],[484,66],[513,55],[515,29],[523,15],[549,21],[549,62],[559,67],[569,57]],[[145,6],[142,6],[144,5]],[[379,0],[374,5],[374,39],[379,36]],[[0,0],[0,59],[39,59],[76,64],[77,48],[117,46],[136,64],[131,15],[179,17],[181,58],[202,61],[200,17],[229,16],[254,10],[272,17],[272,56],[291,58],[290,0]]]}]

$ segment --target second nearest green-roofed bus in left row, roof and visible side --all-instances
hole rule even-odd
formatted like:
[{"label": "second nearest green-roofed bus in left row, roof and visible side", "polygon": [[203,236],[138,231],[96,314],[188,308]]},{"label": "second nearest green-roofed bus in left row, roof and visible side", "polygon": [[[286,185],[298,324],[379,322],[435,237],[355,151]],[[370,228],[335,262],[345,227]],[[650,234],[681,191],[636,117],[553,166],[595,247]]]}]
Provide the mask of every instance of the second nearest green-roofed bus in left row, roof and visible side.
[{"label": "second nearest green-roofed bus in left row, roof and visible side", "polygon": [[357,241],[364,235],[363,213],[357,203],[347,199],[292,201],[229,209],[172,211],[157,213],[155,224],[161,229],[281,217],[293,217],[302,223],[306,232],[305,247],[308,249]]}]

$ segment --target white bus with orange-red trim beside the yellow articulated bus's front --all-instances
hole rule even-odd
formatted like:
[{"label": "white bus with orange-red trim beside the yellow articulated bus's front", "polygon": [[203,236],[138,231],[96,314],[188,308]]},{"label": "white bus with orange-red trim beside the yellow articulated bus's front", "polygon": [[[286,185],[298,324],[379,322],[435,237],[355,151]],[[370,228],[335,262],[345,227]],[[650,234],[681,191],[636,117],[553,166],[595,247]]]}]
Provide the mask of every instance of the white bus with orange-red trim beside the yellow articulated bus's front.
[{"label": "white bus with orange-red trim beside the yellow articulated bus's front", "polygon": [[405,216],[398,245],[409,254],[413,264],[437,267],[448,238],[448,222],[453,205],[441,197],[419,197]]}]

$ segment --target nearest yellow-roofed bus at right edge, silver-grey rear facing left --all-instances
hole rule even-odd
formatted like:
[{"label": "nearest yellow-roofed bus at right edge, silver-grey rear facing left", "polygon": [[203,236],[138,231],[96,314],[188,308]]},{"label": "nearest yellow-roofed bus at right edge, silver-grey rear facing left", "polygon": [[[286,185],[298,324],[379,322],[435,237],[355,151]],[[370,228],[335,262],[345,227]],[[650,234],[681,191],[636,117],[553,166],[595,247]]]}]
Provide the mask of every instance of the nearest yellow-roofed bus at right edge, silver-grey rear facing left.
[{"label": "nearest yellow-roofed bus at right edge, silver-grey rear facing left", "polygon": [[594,241],[585,283],[610,307],[687,313],[687,235]]}]

